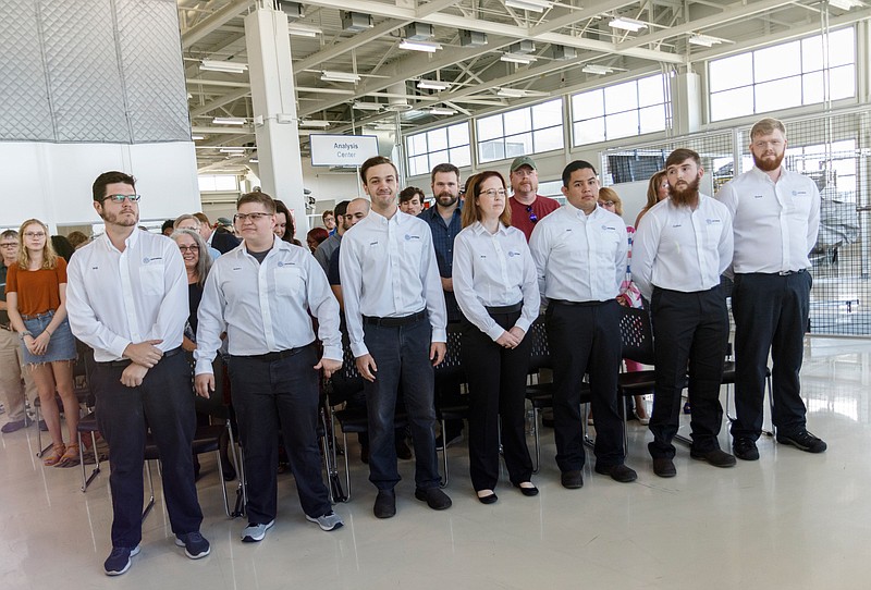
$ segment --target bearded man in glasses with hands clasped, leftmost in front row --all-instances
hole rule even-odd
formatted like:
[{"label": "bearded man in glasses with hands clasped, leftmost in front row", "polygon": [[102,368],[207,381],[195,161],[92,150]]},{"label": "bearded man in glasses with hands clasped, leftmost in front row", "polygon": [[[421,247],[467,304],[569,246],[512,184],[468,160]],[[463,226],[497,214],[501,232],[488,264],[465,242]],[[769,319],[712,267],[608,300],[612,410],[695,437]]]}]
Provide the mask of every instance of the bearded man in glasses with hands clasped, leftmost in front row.
[{"label": "bearded man in glasses with hands clasped, leftmost in front row", "polygon": [[184,262],[172,239],[136,231],[133,176],[100,174],[93,193],[106,233],[70,261],[66,311],[75,336],[94,348],[90,386],[112,469],[112,552],[103,569],[118,576],[130,568],[142,541],[146,420],[160,452],[175,544],[192,560],[210,548],[199,533],[203,512],[191,454],[194,396],[181,354],[188,316]]}]

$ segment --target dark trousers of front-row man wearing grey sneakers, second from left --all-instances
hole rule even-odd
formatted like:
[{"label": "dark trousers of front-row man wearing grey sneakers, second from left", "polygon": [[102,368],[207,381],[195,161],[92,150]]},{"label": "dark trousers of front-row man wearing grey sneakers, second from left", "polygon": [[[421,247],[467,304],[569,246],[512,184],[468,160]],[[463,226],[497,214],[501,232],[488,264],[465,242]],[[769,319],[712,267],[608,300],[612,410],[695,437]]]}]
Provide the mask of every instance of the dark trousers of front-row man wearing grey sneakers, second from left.
[{"label": "dark trousers of front-row man wearing grey sneakers, second from left", "polygon": [[245,451],[249,523],[265,524],[275,518],[279,429],[303,511],[318,517],[332,509],[321,475],[316,430],[319,373],[314,367],[317,362],[314,344],[273,361],[230,357],[233,408]]}]

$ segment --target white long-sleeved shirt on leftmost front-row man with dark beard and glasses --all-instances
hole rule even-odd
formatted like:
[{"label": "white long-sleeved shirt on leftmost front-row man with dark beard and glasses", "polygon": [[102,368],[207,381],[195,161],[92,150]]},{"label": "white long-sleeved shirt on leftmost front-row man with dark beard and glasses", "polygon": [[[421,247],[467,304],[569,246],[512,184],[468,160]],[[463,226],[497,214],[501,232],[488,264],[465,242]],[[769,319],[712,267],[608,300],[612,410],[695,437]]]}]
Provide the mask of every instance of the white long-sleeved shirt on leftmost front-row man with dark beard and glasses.
[{"label": "white long-sleeved shirt on leftmost front-row man with dark beard and glasses", "polygon": [[169,237],[134,230],[124,251],[103,234],[76,250],[66,269],[66,314],[73,334],[106,362],[128,344],[162,340],[177,348],[189,312],[187,273]]}]

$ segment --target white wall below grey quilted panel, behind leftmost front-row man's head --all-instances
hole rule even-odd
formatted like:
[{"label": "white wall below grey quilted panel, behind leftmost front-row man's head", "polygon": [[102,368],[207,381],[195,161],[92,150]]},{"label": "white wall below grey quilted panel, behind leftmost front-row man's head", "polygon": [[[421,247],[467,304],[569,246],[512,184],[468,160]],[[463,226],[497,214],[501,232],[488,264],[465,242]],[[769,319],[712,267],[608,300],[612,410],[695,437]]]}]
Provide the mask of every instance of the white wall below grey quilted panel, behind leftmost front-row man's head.
[{"label": "white wall below grey quilted panel, behind leftmost front-row man's head", "polygon": [[110,170],[136,177],[143,220],[199,210],[194,144],[0,143],[0,226],[37,218],[58,225],[100,222],[94,180]]}]

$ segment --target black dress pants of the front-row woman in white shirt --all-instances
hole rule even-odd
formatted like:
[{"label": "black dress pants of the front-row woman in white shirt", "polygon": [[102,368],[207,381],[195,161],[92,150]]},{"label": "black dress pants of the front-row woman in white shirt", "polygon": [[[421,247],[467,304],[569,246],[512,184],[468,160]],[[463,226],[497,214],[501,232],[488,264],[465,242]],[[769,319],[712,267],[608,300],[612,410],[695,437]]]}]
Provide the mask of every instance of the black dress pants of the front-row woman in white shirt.
[{"label": "black dress pants of the front-row woman in white shirt", "polygon": [[[510,330],[520,317],[491,314]],[[511,482],[532,477],[526,445],[526,376],[532,339],[527,334],[516,348],[504,348],[468,321],[463,322],[463,369],[469,384],[469,474],[476,491],[492,490],[499,480],[499,418],[502,446]]]}]

